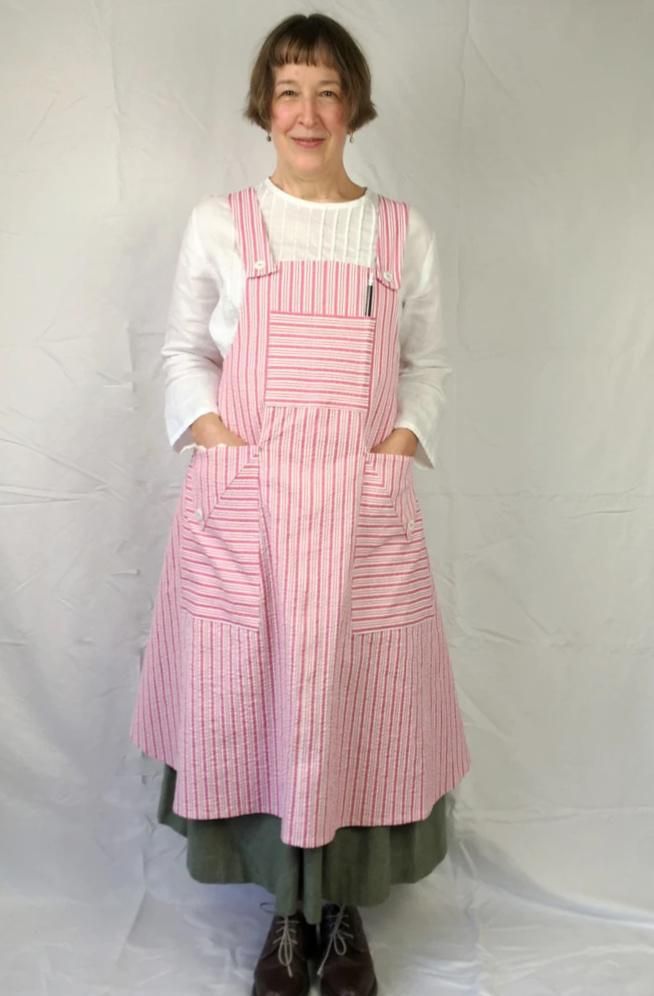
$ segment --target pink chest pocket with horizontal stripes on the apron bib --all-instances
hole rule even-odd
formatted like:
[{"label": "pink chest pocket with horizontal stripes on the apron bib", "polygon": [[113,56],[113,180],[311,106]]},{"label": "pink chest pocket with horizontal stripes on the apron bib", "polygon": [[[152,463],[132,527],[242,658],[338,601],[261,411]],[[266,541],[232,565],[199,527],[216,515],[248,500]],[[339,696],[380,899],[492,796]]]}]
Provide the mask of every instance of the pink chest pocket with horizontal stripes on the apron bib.
[{"label": "pink chest pocket with horizontal stripes on the apron bib", "polygon": [[270,311],[267,405],[368,410],[376,319]]}]

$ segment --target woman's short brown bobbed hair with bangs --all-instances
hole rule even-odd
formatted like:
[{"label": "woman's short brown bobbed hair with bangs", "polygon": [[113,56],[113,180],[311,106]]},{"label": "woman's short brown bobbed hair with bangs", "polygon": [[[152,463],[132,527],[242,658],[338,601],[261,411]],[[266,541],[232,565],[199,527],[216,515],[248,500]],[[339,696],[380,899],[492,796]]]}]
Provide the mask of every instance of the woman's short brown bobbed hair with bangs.
[{"label": "woman's short brown bobbed hair with bangs", "polygon": [[377,117],[370,97],[370,68],[361,48],[345,28],[326,14],[291,14],[264,39],[250,76],[244,117],[265,131],[270,127],[274,67],[288,62],[336,69],[348,107],[348,130]]}]

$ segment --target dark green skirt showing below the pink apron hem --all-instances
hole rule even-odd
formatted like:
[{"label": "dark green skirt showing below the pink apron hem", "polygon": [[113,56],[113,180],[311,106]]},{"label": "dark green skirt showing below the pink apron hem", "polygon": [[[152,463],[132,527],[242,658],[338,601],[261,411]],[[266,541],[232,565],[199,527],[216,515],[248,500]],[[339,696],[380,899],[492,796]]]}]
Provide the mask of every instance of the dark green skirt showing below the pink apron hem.
[{"label": "dark green skirt showing below the pink apron hem", "polygon": [[447,851],[447,794],[424,820],[340,827],[321,847],[293,847],[281,840],[281,819],[269,813],[216,820],[179,816],[172,808],[176,779],[175,769],[164,765],[157,818],[186,837],[191,878],[260,885],[275,897],[277,913],[294,913],[301,905],[309,923],[320,922],[326,901],[383,902],[391,885],[429,875]]}]

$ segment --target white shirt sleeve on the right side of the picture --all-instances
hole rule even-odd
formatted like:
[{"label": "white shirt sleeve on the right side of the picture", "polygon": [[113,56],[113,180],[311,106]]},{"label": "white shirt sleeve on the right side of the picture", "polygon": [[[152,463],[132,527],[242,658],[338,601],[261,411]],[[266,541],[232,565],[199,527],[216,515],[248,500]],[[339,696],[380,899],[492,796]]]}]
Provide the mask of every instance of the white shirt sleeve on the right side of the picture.
[{"label": "white shirt sleeve on the right side of the picture", "polygon": [[446,402],[445,382],[452,368],[442,320],[436,236],[415,208],[409,213],[402,289],[395,428],[416,434],[415,461],[433,468]]}]

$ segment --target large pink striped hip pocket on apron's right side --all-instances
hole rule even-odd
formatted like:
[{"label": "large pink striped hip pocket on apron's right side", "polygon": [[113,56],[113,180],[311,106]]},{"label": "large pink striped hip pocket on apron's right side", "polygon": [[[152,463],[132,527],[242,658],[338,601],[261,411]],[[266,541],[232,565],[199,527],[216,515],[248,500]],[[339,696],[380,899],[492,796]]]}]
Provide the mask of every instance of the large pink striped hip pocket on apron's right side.
[{"label": "large pink striped hip pocket on apron's right side", "polygon": [[410,625],[434,611],[413,457],[366,453],[352,578],[352,628]]}]

